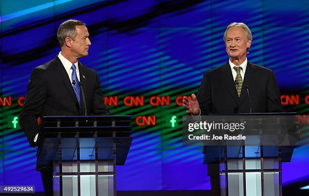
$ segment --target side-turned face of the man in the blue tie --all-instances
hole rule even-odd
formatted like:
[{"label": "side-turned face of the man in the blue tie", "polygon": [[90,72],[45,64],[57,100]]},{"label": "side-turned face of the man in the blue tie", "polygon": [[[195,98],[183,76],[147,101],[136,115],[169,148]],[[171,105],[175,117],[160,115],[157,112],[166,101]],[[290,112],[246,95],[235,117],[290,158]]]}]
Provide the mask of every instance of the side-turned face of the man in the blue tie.
[{"label": "side-turned face of the man in the blue tie", "polygon": [[77,58],[88,55],[88,49],[91,45],[88,29],[85,25],[75,26],[77,31],[74,40],[72,40],[71,51]]}]

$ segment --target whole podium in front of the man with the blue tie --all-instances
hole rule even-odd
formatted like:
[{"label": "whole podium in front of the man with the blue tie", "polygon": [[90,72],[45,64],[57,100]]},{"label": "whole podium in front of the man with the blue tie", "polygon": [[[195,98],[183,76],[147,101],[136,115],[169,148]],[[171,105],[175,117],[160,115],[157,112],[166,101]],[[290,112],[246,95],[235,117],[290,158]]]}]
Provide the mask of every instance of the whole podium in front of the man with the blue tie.
[{"label": "whole podium in front of the man with the blue tie", "polygon": [[37,168],[53,166],[54,196],[115,196],[116,165],[132,142],[131,116],[44,116]]}]

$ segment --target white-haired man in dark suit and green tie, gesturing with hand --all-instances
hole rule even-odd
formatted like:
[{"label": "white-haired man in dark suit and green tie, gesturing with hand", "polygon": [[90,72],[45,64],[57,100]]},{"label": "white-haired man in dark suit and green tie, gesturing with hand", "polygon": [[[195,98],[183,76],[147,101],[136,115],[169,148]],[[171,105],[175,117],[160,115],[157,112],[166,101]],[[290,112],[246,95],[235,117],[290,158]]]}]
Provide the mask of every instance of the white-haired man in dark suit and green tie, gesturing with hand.
[{"label": "white-haired man in dark suit and green tie, gesturing with hand", "polygon": [[[204,73],[197,97],[183,98],[187,113],[200,115],[283,112],[272,70],[250,63],[246,54],[252,34],[244,23],[231,23],[224,33],[229,61]],[[214,195],[219,195],[219,165],[208,165]]]}]

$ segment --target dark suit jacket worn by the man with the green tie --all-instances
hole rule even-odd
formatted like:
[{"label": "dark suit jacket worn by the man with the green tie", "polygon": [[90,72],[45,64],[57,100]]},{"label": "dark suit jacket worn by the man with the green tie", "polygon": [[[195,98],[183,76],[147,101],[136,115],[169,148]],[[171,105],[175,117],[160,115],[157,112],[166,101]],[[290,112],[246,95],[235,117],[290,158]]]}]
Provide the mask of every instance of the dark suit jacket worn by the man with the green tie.
[{"label": "dark suit jacket worn by the man with the green tie", "polygon": [[229,62],[204,73],[197,93],[201,115],[283,112],[275,74],[270,69],[247,62],[238,98]]}]

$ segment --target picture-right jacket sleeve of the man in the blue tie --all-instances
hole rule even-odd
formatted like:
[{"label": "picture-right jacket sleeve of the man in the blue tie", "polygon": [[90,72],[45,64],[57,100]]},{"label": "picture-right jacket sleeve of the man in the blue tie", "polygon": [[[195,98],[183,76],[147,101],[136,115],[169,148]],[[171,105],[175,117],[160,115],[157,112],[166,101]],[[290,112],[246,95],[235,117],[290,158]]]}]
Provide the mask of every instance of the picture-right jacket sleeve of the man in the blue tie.
[{"label": "picture-right jacket sleeve of the man in the blue tie", "polygon": [[101,83],[97,73],[96,73],[96,84],[94,90],[94,99],[92,104],[92,113],[94,115],[107,115],[110,113],[110,111],[106,108],[104,104]]}]

